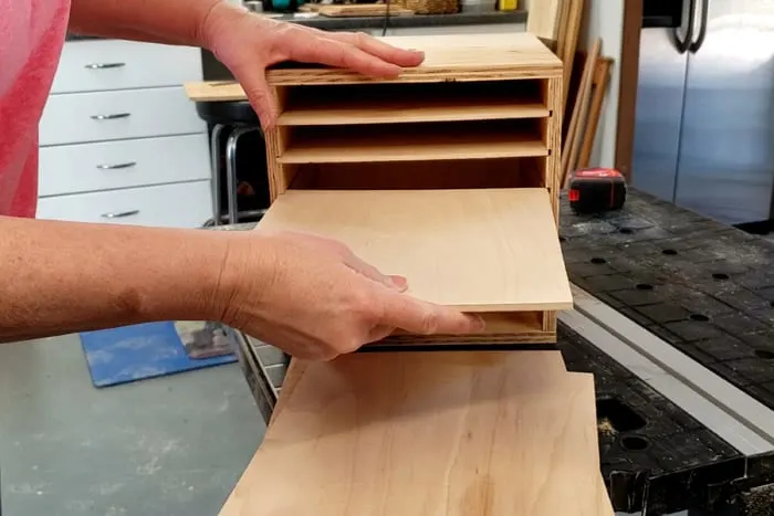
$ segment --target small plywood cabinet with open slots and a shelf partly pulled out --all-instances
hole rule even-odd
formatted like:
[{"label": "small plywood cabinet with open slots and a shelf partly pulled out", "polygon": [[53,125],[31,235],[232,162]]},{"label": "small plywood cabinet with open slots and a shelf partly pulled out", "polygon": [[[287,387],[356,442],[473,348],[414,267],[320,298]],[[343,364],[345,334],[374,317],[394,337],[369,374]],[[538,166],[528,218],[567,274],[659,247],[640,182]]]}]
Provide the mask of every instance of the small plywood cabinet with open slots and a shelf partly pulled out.
[{"label": "small plywood cabinet with open slots and a shelf partly pulled out", "polygon": [[425,63],[381,82],[269,73],[281,114],[260,227],[344,241],[409,294],[484,314],[487,341],[555,340],[555,310],[572,306],[556,233],[561,62],[526,33],[385,41]]}]

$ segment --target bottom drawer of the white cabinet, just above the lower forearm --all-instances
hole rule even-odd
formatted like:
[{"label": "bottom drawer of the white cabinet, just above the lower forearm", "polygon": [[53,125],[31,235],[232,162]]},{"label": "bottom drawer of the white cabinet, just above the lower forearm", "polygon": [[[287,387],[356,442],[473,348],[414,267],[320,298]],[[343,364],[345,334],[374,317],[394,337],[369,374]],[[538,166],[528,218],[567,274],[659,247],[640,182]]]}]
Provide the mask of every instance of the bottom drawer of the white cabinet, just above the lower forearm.
[{"label": "bottom drawer of the white cabinet, just above the lower forearm", "polygon": [[127,188],[38,200],[38,218],[74,222],[200,228],[212,218],[209,181]]}]

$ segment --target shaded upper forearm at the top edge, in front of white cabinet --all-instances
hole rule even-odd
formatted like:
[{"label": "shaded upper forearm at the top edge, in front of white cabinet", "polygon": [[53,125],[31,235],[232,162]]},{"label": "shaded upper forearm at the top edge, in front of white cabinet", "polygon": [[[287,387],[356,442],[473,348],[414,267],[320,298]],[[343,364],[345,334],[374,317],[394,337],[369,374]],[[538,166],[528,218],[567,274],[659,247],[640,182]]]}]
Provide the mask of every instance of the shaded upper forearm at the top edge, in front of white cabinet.
[{"label": "shaded upper forearm at the top edge, in front of white cabinet", "polygon": [[205,27],[222,0],[72,0],[70,30],[80,34],[208,48]]}]

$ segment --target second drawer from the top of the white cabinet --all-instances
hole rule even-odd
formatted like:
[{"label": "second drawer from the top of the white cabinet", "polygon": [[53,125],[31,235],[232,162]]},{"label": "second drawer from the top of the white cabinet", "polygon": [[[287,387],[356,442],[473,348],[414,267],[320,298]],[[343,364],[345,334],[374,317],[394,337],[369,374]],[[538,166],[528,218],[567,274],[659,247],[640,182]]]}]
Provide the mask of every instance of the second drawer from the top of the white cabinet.
[{"label": "second drawer from the top of the white cabinet", "polygon": [[40,145],[81,144],[203,133],[206,124],[182,86],[49,97]]}]

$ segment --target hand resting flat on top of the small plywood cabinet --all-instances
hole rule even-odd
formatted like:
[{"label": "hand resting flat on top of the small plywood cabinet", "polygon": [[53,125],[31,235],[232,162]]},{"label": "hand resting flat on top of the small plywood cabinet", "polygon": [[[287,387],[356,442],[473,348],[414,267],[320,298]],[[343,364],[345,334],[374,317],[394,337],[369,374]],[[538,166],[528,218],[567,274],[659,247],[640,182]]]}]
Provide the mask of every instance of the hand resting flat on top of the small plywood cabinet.
[{"label": "hand resting flat on top of the small plywood cabinet", "polygon": [[278,116],[265,78],[266,67],[283,62],[324,64],[377,78],[393,78],[418,66],[420,52],[397,49],[364,33],[325,32],[234,9],[212,8],[202,29],[206,46],[244,88],[264,129]]}]

